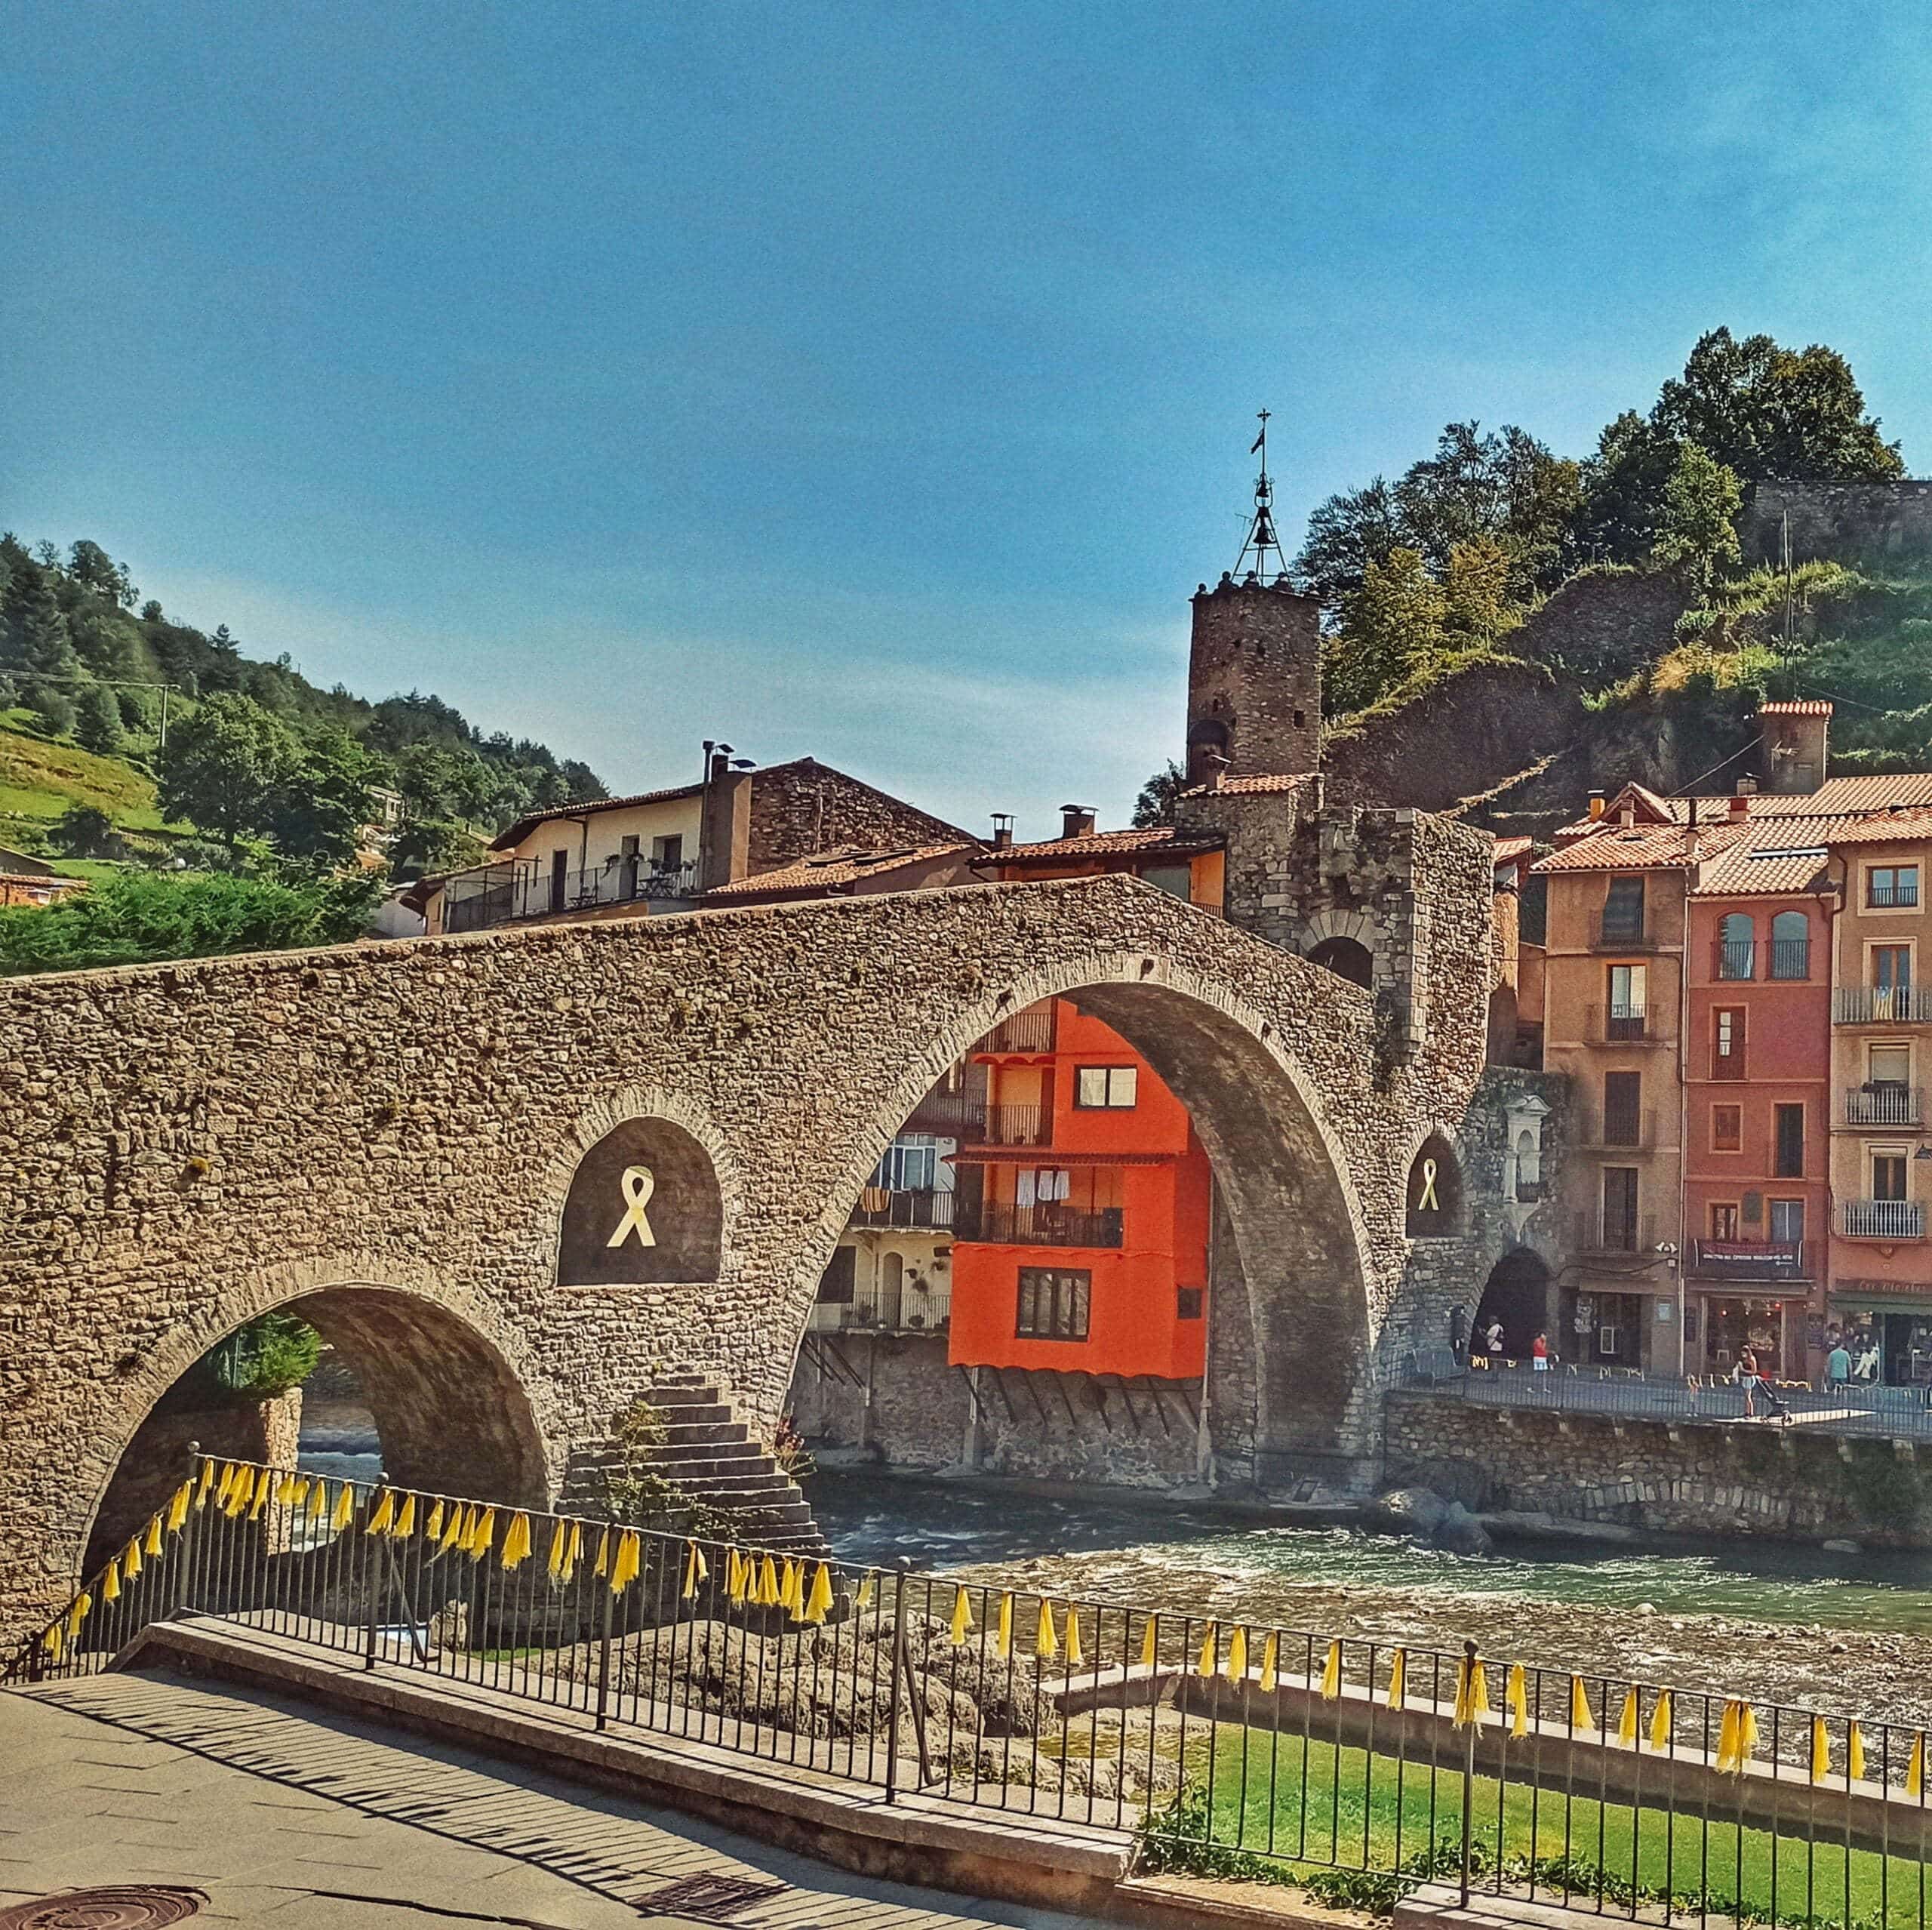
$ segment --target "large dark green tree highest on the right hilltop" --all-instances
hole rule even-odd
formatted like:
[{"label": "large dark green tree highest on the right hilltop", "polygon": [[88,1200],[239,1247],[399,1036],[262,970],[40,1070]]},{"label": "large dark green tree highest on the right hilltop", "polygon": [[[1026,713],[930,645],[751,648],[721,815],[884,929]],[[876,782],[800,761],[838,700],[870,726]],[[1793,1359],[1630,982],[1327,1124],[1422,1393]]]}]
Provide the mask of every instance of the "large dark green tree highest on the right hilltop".
[{"label": "large dark green tree highest on the right hilltop", "polygon": [[1768,334],[1729,328],[1700,336],[1685,373],[1663,384],[1652,423],[1696,442],[1747,483],[1891,481],[1905,473],[1886,442],[1851,363],[1835,348],[1779,348]]}]

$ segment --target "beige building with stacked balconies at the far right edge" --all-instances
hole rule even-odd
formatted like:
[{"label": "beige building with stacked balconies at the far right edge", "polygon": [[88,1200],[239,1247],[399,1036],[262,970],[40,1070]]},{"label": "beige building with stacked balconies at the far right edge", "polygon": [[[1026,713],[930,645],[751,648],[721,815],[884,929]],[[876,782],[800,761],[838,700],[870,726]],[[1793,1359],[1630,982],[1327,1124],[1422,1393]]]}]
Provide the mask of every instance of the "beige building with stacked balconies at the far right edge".
[{"label": "beige building with stacked balconies at the far right edge", "polygon": [[1832,1074],[1832,1321],[1878,1377],[1932,1385],[1932,997],[1918,945],[1932,875],[1932,809],[1897,806],[1830,835],[1843,894],[1835,931]]}]

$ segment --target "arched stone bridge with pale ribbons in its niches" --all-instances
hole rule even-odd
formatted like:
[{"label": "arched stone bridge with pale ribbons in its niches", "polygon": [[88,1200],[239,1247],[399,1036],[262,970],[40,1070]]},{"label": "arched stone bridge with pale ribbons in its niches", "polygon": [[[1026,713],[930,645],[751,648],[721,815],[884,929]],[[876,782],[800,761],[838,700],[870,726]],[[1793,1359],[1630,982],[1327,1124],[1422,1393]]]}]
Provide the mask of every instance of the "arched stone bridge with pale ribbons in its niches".
[{"label": "arched stone bridge with pale ribbons in its niches", "polygon": [[[1051,993],[1134,1041],[1213,1161],[1215,1451],[1264,1482],[1360,1468],[1378,1354],[1437,1341],[1509,1244],[1478,1099],[1488,838],[1459,838],[1406,1041],[1124,877],[0,985],[0,1625],[64,1594],[137,1426],[269,1308],[357,1364],[404,1484],[549,1499],[674,1368],[769,1428],[895,1130]],[[1416,1240],[1432,1136],[1464,1198]],[[630,1161],[653,1244],[612,1248]]]}]

